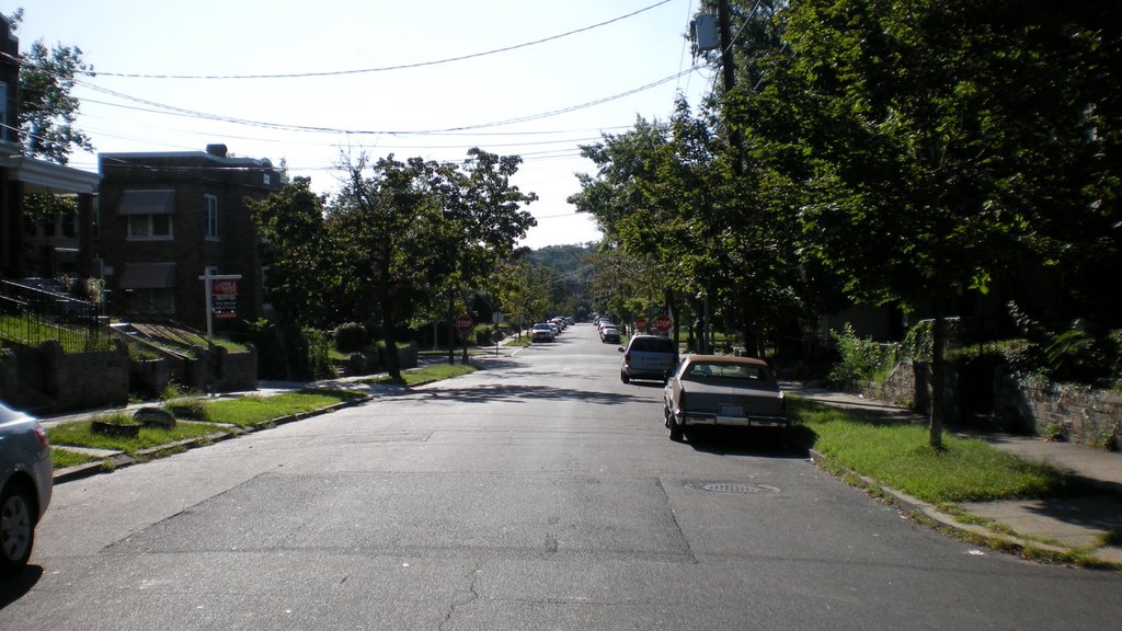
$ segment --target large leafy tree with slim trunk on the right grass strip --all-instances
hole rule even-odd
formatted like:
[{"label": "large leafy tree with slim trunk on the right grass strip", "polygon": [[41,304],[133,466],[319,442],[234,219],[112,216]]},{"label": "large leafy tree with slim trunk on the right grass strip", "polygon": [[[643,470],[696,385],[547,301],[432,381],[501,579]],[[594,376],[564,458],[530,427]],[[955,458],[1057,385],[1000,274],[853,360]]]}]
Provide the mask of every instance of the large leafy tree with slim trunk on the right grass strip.
[{"label": "large leafy tree with slim trunk on the right grass strip", "polygon": [[[1094,25],[1118,21],[1095,15],[1047,2],[792,2],[790,49],[773,56],[761,99],[787,103],[785,125],[753,122],[751,103],[734,115],[799,156],[784,165],[791,154],[776,150],[771,164],[803,188],[804,260],[855,300],[930,302],[936,392],[951,298],[986,291],[1018,262],[1060,260],[1091,226],[1116,237],[1119,184],[1106,172],[1119,39],[1116,26]],[[937,448],[942,417],[935,396]]]}]

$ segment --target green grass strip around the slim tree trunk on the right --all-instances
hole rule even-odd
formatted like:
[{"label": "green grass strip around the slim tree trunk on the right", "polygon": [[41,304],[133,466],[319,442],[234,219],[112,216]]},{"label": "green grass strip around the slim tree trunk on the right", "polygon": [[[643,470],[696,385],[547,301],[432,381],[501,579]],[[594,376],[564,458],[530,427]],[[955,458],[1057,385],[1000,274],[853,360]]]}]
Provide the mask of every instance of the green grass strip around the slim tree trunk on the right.
[{"label": "green grass strip around the slim tree trunk on the right", "polygon": [[866,412],[791,401],[792,419],[831,463],[926,502],[1045,497],[1073,492],[1055,467],[1028,463],[987,445],[946,433],[928,446],[928,428]]}]

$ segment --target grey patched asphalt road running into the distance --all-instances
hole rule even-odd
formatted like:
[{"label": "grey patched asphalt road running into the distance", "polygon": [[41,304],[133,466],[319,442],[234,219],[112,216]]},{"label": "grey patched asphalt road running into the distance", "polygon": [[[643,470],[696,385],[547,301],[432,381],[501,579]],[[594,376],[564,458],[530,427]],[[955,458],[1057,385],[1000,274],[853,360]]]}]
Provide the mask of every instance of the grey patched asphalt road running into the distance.
[{"label": "grey patched asphalt road running into the distance", "polygon": [[3,630],[1109,629],[1122,576],[948,539],[757,436],[674,443],[589,324],[56,487]]}]

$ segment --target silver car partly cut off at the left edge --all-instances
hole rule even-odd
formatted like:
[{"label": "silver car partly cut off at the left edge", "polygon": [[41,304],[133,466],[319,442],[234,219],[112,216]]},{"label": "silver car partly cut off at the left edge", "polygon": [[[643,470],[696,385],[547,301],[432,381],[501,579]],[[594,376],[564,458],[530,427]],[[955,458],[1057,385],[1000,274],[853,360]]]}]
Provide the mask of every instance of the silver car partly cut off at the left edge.
[{"label": "silver car partly cut off at the left edge", "polygon": [[53,475],[46,430],[0,403],[0,574],[19,571],[31,557]]}]

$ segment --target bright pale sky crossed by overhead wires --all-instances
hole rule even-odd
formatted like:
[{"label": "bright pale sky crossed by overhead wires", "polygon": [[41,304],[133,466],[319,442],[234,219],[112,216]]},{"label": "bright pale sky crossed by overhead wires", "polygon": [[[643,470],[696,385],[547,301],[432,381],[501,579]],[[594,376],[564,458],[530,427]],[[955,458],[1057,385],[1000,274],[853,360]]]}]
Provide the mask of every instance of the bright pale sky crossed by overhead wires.
[{"label": "bright pale sky crossed by overhead wires", "polygon": [[[82,49],[77,127],[94,153],[283,159],[321,193],[344,156],[462,162],[519,155],[540,198],[532,248],[596,241],[565,200],[595,173],[580,145],[698,103],[716,68],[686,38],[698,0],[0,0],[24,8],[20,48]],[[697,67],[695,67],[697,66]]]}]

